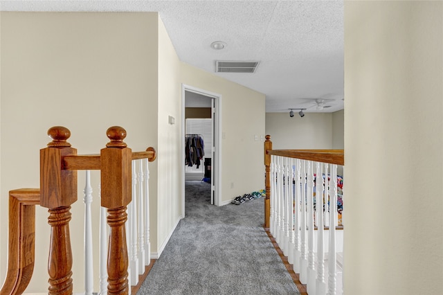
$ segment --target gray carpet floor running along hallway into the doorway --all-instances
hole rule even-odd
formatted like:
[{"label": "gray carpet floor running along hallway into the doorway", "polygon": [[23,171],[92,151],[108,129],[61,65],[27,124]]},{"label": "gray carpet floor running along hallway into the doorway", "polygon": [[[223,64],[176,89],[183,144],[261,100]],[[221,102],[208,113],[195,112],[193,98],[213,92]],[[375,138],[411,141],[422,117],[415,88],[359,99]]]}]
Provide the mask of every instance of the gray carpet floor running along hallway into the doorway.
[{"label": "gray carpet floor running along hallway into the doorway", "polygon": [[186,217],[137,294],[300,294],[263,229],[264,197],[210,205],[210,184],[186,182]]}]

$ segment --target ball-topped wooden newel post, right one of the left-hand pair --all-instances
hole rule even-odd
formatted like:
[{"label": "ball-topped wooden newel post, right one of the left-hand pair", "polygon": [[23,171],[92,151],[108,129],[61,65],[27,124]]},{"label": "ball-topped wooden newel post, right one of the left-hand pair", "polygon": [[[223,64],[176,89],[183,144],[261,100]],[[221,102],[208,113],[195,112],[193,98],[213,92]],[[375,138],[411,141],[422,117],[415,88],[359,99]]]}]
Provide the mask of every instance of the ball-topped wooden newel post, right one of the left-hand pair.
[{"label": "ball-topped wooden newel post, right one of the left-hand pair", "polygon": [[128,294],[128,254],[125,222],[132,197],[132,150],[123,139],[123,127],[109,127],[111,140],[100,150],[102,206],[108,209],[108,294]]}]

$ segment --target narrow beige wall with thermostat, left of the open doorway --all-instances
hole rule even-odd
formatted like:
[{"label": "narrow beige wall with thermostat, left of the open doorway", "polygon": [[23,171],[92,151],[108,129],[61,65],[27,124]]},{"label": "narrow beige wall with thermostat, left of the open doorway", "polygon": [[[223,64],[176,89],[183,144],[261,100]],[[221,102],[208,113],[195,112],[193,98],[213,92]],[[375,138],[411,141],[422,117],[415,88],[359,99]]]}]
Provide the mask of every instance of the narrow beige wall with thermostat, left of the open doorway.
[{"label": "narrow beige wall with thermostat, left of the open doorway", "polygon": [[[168,235],[181,218],[181,62],[159,19],[159,197],[157,244],[163,249]],[[168,117],[175,118],[170,125]],[[183,164],[183,165],[182,165]]]}]

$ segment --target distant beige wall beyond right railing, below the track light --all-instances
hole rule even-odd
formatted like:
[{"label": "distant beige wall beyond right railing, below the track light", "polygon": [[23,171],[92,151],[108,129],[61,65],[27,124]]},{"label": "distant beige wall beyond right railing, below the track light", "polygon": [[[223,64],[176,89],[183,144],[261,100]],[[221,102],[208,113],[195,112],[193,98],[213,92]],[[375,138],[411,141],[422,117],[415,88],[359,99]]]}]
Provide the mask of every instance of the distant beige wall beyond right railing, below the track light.
[{"label": "distant beige wall beyond right railing, below the track light", "polygon": [[343,131],[334,131],[333,118],[332,113],[305,113],[302,118],[297,113],[292,118],[289,112],[266,113],[266,134],[271,135],[274,150],[329,150],[333,148],[334,135],[341,135],[336,141],[343,141]]}]

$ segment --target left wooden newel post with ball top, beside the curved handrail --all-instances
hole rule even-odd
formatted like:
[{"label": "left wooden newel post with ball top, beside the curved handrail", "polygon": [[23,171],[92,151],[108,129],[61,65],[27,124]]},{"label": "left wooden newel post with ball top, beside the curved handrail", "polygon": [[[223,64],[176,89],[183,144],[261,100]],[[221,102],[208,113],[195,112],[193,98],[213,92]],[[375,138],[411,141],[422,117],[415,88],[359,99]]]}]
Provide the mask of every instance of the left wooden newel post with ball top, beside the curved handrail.
[{"label": "left wooden newel post with ball top, beside the curved handrail", "polygon": [[69,129],[48,129],[53,141],[40,150],[40,205],[48,208],[51,225],[48,294],[72,294],[71,204],[77,201],[77,171],[63,170],[62,158],[77,154],[66,140]]}]

